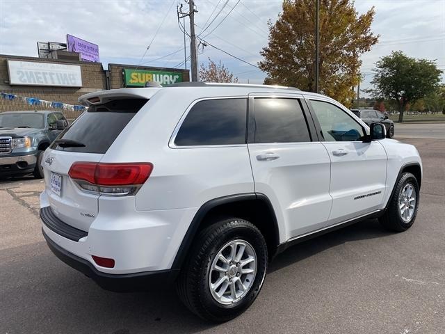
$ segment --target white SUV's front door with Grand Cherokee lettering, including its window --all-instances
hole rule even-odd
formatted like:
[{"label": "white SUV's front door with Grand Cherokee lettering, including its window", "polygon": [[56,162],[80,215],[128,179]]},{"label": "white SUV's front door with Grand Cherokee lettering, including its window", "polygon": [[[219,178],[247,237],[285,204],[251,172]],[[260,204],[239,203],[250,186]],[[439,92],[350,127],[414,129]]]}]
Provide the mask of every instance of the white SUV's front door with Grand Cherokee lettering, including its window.
[{"label": "white SUV's front door with Grand Cherokee lettering, including its window", "polygon": [[340,105],[317,99],[309,97],[307,103],[332,161],[330,223],[375,211],[386,189],[385,148],[378,141],[364,142],[364,127]]}]

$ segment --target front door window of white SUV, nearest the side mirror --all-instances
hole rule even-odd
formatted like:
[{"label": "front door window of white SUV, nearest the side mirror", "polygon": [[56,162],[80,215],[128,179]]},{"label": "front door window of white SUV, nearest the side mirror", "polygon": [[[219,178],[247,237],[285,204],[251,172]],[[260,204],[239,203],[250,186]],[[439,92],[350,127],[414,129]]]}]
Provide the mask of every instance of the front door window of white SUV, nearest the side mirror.
[{"label": "front door window of white SUV, nearest the side mirror", "polygon": [[345,111],[329,102],[311,100],[325,141],[362,141],[363,128]]}]

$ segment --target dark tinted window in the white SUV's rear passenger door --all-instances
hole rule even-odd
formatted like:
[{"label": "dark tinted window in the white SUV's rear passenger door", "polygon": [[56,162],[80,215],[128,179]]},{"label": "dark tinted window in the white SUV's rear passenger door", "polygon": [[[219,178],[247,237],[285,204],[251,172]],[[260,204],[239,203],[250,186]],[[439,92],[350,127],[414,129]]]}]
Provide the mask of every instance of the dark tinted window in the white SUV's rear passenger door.
[{"label": "dark tinted window in the white SUV's rear passenger door", "polygon": [[297,99],[254,99],[254,143],[298,143],[311,141]]}]

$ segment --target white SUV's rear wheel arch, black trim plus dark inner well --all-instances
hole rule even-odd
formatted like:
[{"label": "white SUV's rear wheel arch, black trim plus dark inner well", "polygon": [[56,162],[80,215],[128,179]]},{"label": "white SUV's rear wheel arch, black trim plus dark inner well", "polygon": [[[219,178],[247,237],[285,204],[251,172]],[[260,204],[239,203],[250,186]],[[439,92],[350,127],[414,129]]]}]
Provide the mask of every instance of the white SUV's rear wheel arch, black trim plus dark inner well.
[{"label": "white SUV's rear wheel arch, black trim plus dark inner well", "polygon": [[243,218],[259,228],[266,239],[269,259],[280,244],[277,218],[270,200],[262,193],[240,193],[214,198],[198,209],[177,251],[172,269],[181,269],[197,234],[223,218]]}]

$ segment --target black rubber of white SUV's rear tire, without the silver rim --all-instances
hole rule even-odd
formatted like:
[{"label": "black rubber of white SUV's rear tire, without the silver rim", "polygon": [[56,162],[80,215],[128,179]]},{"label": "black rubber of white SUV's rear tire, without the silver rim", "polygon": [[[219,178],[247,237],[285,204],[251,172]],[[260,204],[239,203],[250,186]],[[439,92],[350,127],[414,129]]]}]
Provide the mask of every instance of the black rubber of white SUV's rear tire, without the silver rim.
[{"label": "black rubber of white SUV's rear tire, without the silver rim", "polygon": [[[214,258],[230,241],[247,241],[257,255],[257,271],[248,292],[238,301],[223,305],[213,298],[209,283]],[[177,281],[179,298],[195,315],[211,322],[224,322],[240,315],[257,298],[266,275],[266,241],[258,228],[239,218],[218,221],[200,232]],[[241,274],[242,275],[242,274]]]}]

